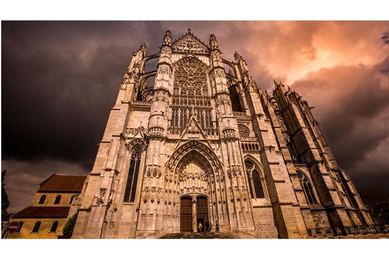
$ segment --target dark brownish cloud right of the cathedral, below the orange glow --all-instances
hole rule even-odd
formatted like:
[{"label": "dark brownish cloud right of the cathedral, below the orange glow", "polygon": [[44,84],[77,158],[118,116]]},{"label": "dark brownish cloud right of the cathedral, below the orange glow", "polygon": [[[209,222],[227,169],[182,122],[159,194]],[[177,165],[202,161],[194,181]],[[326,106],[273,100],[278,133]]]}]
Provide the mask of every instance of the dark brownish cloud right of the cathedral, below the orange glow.
[{"label": "dark brownish cloud right of the cathedral, below the orange glow", "polygon": [[313,112],[340,166],[361,188],[389,184],[388,67],[389,57],[373,67],[323,68],[291,85],[316,107]]}]

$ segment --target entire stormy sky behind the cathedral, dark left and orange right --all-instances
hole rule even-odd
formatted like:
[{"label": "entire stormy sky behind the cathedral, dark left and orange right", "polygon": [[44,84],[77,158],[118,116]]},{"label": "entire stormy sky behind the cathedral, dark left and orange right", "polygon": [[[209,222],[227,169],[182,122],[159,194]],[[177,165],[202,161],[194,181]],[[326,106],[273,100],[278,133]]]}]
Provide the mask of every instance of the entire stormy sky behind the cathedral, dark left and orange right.
[{"label": "entire stormy sky behind the cathedral, dark left and orange right", "polygon": [[238,51],[262,88],[275,78],[298,91],[357,188],[387,189],[389,22],[2,22],[10,212],[53,173],[88,174],[133,51],[188,28],[215,34],[227,60]]}]

